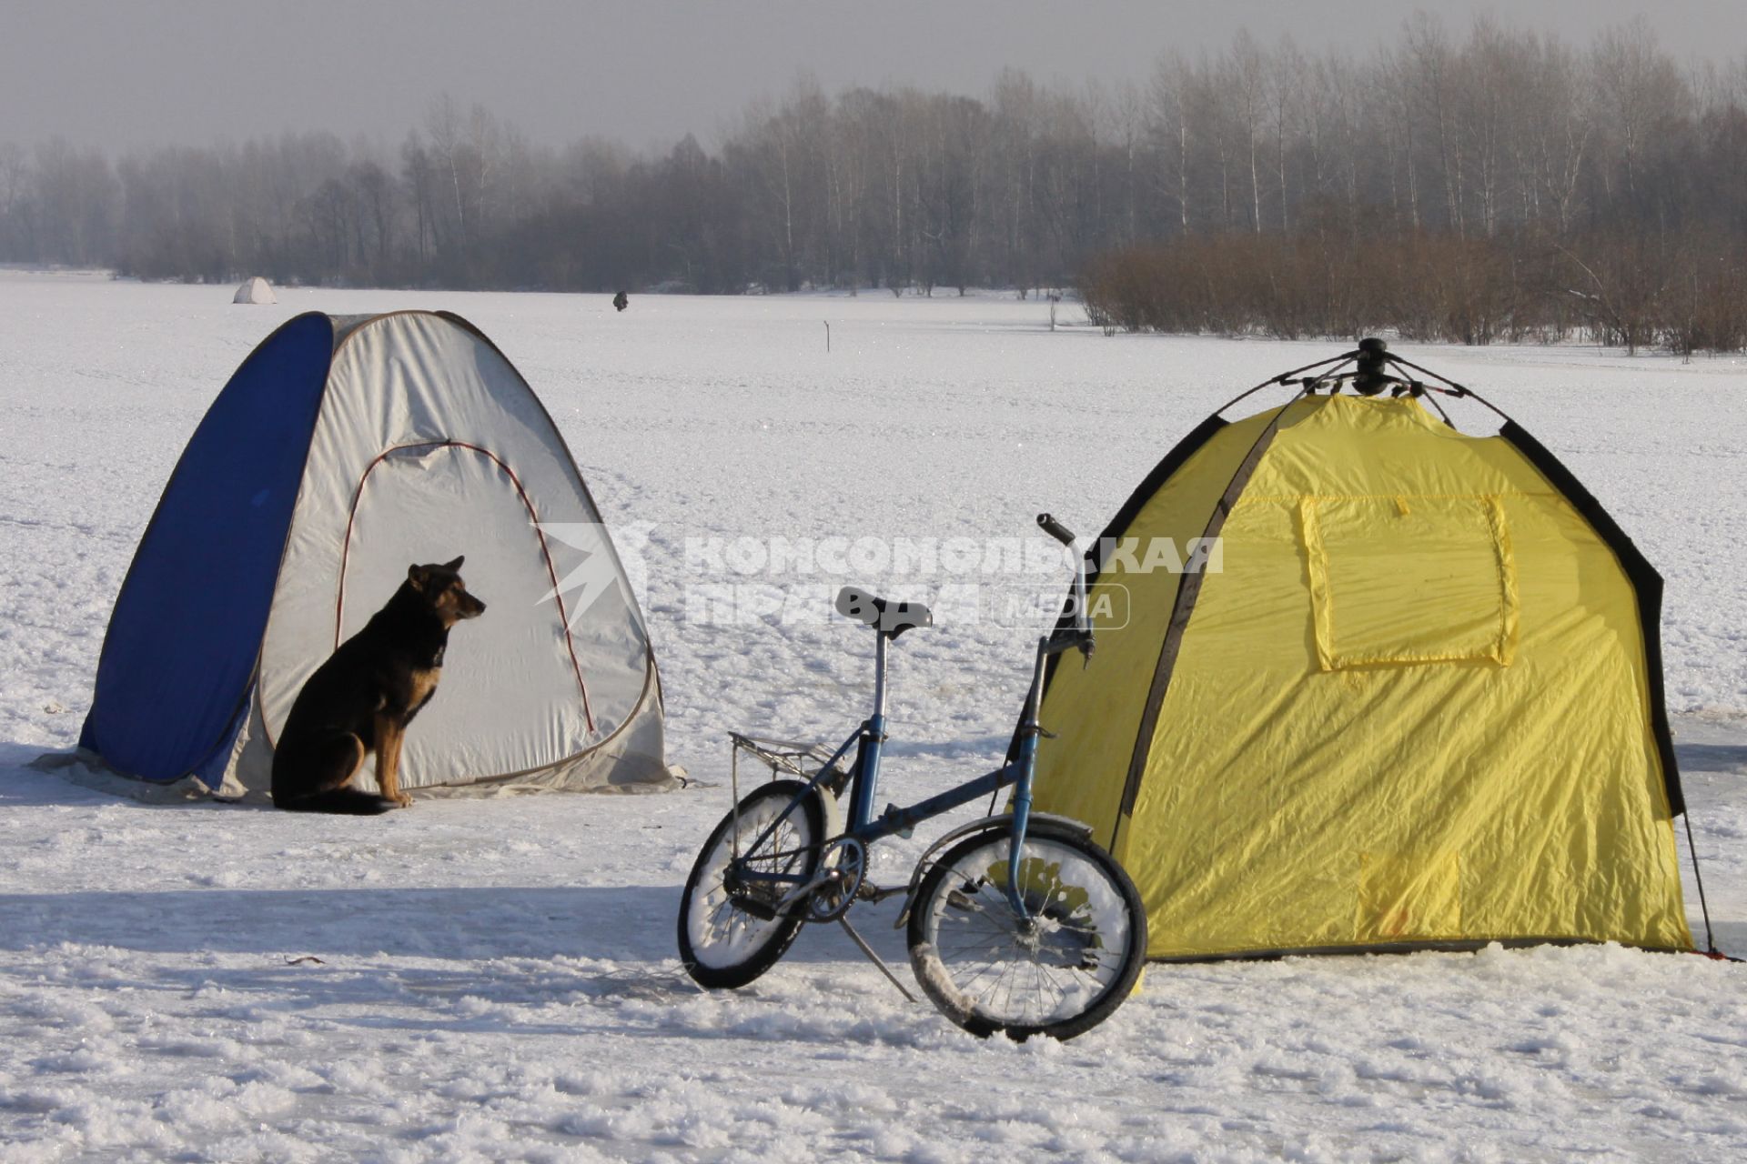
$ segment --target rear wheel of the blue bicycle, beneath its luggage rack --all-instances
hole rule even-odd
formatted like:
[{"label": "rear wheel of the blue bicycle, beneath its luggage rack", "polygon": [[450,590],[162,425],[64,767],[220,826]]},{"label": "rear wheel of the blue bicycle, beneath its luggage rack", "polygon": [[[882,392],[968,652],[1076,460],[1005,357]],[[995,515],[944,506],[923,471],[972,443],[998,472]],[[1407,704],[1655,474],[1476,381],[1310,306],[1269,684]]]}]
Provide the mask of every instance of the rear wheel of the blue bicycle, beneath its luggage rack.
[{"label": "rear wheel of the blue bicycle, beneath its luggage rack", "polygon": [[[776,913],[793,883],[734,883],[730,874],[739,853],[748,871],[812,878],[825,839],[825,805],[818,794],[802,796],[805,791],[798,780],[758,785],[741,801],[737,817],[723,817],[699,850],[680,897],[680,962],[699,986],[746,986],[776,965],[800,932],[798,911]],[[760,845],[758,838],[797,796],[802,801]]]}]

